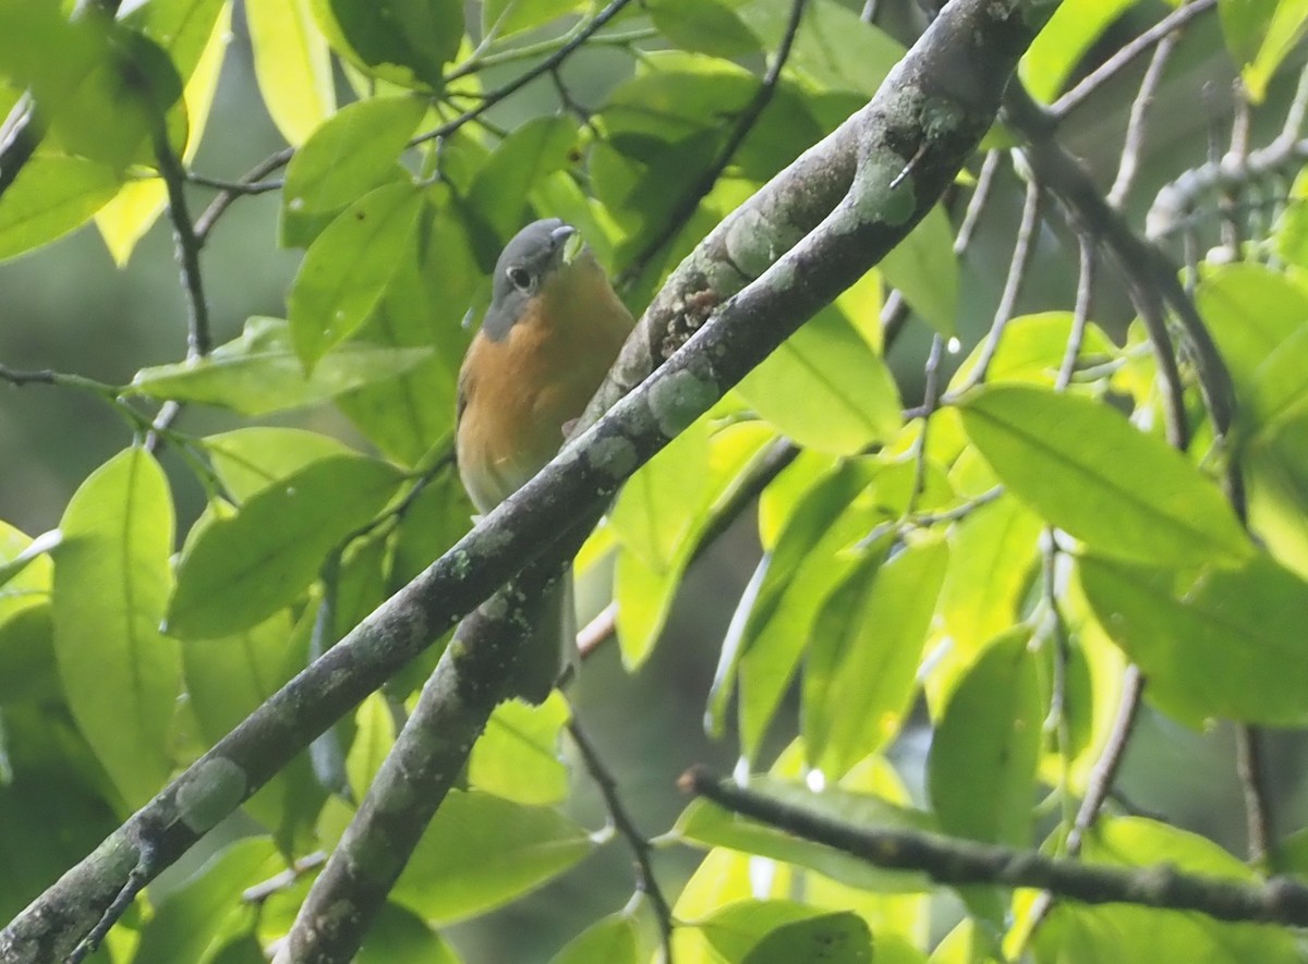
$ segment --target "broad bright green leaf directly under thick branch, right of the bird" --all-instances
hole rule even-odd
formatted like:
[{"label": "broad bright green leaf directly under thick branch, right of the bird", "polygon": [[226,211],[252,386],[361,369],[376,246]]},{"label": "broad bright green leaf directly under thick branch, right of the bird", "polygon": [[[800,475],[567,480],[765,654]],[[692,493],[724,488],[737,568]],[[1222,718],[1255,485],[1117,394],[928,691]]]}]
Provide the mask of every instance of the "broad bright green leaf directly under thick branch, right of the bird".
[{"label": "broad bright green leaf directly under thick branch, right of the bird", "polygon": [[838,315],[790,336],[736,392],[783,435],[821,452],[857,455],[901,425],[895,379]]}]

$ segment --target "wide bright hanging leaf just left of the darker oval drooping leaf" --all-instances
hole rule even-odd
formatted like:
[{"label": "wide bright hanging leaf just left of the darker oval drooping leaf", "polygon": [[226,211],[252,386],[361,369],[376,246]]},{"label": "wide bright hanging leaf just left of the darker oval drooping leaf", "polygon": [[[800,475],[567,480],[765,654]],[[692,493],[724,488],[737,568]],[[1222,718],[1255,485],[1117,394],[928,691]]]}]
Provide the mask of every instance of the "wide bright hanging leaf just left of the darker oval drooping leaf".
[{"label": "wide bright hanging leaf just left of the darker oval drooping leaf", "polygon": [[886,564],[872,551],[823,606],[804,669],[802,721],[808,758],[828,779],[899,733],[948,558],[942,541],[913,543]]}]

